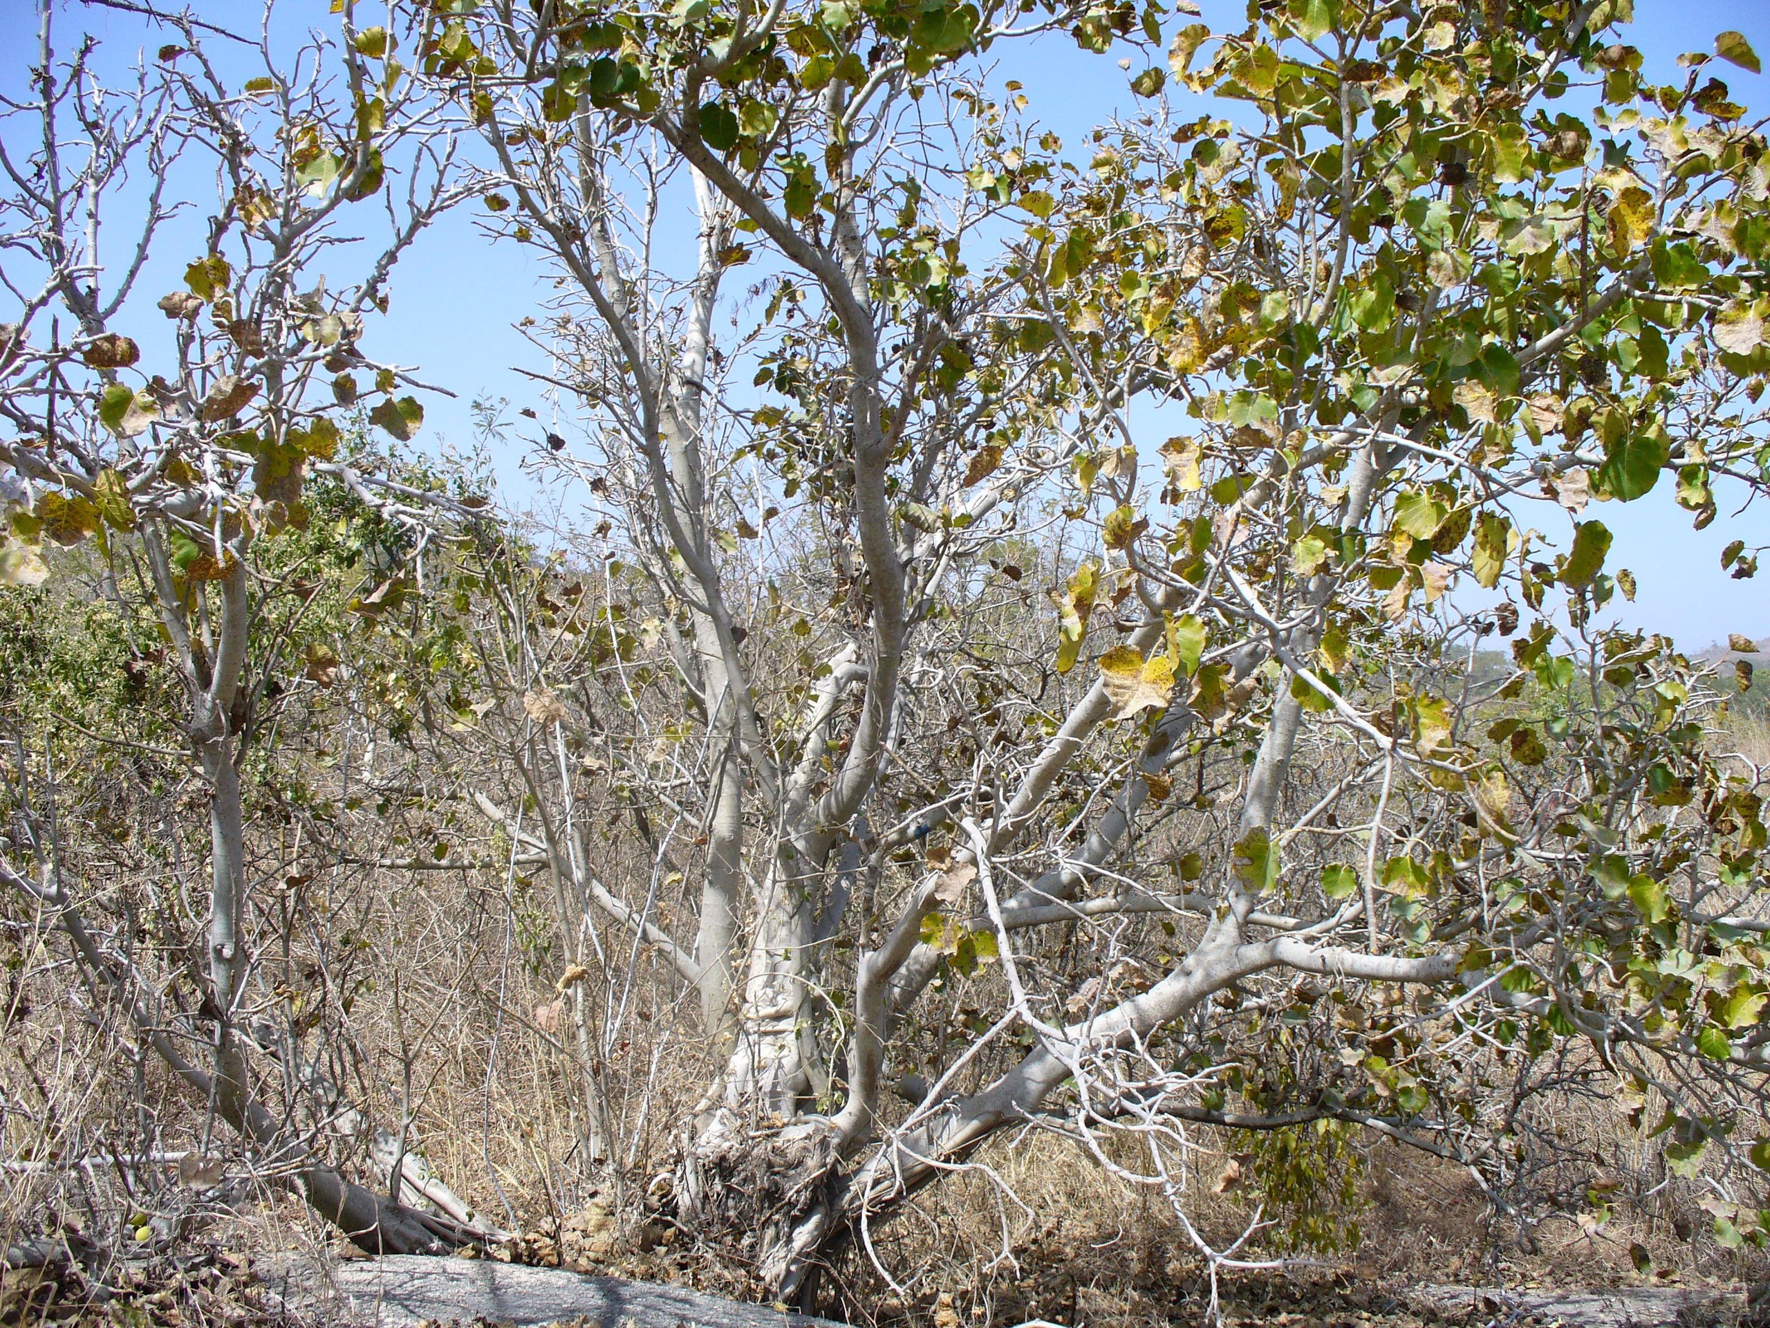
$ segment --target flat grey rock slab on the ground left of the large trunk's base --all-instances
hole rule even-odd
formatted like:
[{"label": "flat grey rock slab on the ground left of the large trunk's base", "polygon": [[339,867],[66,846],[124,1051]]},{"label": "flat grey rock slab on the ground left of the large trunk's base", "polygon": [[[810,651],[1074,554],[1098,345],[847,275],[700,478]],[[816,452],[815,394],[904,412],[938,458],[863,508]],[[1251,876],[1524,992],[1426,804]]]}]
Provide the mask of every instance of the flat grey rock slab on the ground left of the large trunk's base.
[{"label": "flat grey rock slab on the ground left of the large trunk's base", "polygon": [[526,1268],[489,1259],[391,1255],[315,1266],[301,1259],[258,1264],[266,1294],[285,1310],[320,1323],[407,1328],[427,1319],[602,1328],[841,1328],[830,1319],[782,1314],[766,1305],[703,1296],[681,1287]]}]

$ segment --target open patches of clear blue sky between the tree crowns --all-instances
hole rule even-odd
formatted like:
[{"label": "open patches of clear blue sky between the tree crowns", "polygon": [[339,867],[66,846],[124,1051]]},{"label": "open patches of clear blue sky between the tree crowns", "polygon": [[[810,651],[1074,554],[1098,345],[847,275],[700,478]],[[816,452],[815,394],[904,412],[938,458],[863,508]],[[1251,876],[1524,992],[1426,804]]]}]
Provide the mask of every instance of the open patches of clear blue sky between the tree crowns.
[{"label": "open patches of clear blue sky between the tree crowns", "polygon": [[[170,5],[168,5],[170,7]],[[250,0],[196,0],[198,14],[218,21],[234,19]],[[1214,28],[1243,23],[1241,0],[1204,0],[1205,21]],[[126,62],[145,44],[142,23],[131,16],[90,11],[76,4],[58,5],[58,46],[67,50],[85,30],[106,42],[106,64]],[[276,28],[296,37],[303,28],[331,30],[327,0],[281,0]],[[1726,28],[1743,32],[1761,55],[1770,58],[1770,2],[1766,0],[1635,0],[1630,41],[1646,53],[1650,71],[1664,81],[1678,76],[1674,57],[1685,50],[1710,50],[1713,35]],[[0,90],[18,96],[27,66],[35,55],[35,4],[0,0]],[[1140,62],[1133,64],[1136,73]],[[1765,76],[1728,66],[1726,81],[1733,97],[1763,110],[1770,106]],[[997,81],[1018,78],[1032,101],[1032,112],[1073,145],[1094,124],[1135,103],[1127,90],[1129,74],[1112,58],[1090,57],[1067,37],[1053,35],[1030,42],[997,67]],[[1682,80],[1680,80],[1682,81]],[[1184,94],[1181,94],[1184,96]],[[1204,99],[1198,99],[1204,110]],[[1188,108],[1182,106],[1182,112]],[[11,135],[9,135],[11,136]],[[474,212],[458,209],[419,241],[393,282],[393,306],[370,329],[377,358],[419,365],[421,377],[457,393],[427,400],[423,437],[432,444],[466,443],[471,437],[469,404],[474,397],[504,397],[510,418],[536,434],[538,427],[515,418],[529,405],[547,418],[536,384],[515,372],[517,367],[545,368],[536,351],[512,328],[524,315],[536,313],[536,303],[550,290],[550,274],[533,253],[515,244],[489,244],[474,234]],[[685,232],[687,234],[687,232]],[[182,246],[168,246],[181,257]],[[149,301],[172,289],[175,273],[149,273]],[[156,315],[158,317],[158,315]],[[0,310],[0,320],[5,312]],[[501,455],[499,473],[520,501],[524,482],[519,455]],[[1671,499],[1671,483],[1660,483],[1648,498],[1632,505],[1607,505],[1605,522],[1618,535],[1618,549],[1628,549],[1623,561],[1639,581],[1634,606],[1621,606],[1630,625],[1669,632],[1687,648],[1701,648],[1728,632],[1754,637],[1770,636],[1770,570],[1756,581],[1733,581],[1719,570],[1719,552],[1740,535],[1749,544],[1770,540],[1770,526],[1761,508],[1738,522],[1722,517],[1706,531],[1692,531],[1689,513]],[[1545,513],[1547,524],[1549,513]],[[1751,529],[1743,526],[1749,522]]]}]

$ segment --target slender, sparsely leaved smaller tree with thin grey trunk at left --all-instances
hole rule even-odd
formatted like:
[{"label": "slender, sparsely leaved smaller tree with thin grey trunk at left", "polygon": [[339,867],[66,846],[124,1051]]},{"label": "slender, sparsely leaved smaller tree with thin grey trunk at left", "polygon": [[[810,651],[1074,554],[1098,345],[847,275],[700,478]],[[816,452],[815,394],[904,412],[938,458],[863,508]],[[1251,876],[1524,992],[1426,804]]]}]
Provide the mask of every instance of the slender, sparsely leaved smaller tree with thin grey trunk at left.
[{"label": "slender, sparsely leaved smaller tree with thin grey trunk at left", "polygon": [[[396,395],[409,372],[375,363],[359,342],[365,315],[386,306],[393,264],[453,200],[451,142],[391,62],[386,28],[347,23],[342,42],[313,41],[289,64],[267,39],[168,19],[175,41],[119,90],[99,71],[96,42],[62,57],[51,5],[39,21],[37,99],[9,108],[0,149],[7,287],[19,305],[4,329],[0,414],[12,436],[0,459],[21,482],[9,496],[0,577],[39,586],[50,575],[44,547],[94,545],[117,637],[117,650],[97,657],[140,685],[170,664],[175,687],[161,699],[175,712],[143,706],[163,733],[101,737],[152,758],[177,756],[154,738],[179,742],[195,761],[207,917],[200,937],[184,937],[175,915],[152,910],[172,935],[159,933],[152,960],[136,954],[131,910],[83,882],[67,857],[55,802],[65,772],[48,738],[39,760],[27,760],[23,724],[11,735],[14,836],[0,878],[65,933],[99,1006],[126,1015],[124,1039],[143,1039],[260,1165],[287,1174],[363,1248],[474,1239],[473,1225],[400,1202],[398,1174],[382,1197],[313,1151],[315,1135],[349,1108],[306,1062],[301,1029],[266,1013],[290,1011],[262,990],[278,917],[248,869],[242,793],[287,692],[312,687],[324,662],[322,646],[304,641],[317,584],[303,570],[315,551],[290,549],[313,515],[308,485],[342,490],[359,524],[405,528],[407,552],[419,556],[439,513],[469,515],[375,475],[373,453],[350,446],[338,425],[359,391],[365,405],[377,400],[368,416],[398,437],[421,420],[418,402]],[[235,81],[241,50],[262,73]],[[37,129],[28,145],[27,119]],[[179,188],[186,172],[204,170],[216,193],[193,225],[179,214],[196,198]],[[327,290],[317,259],[335,250],[345,216],[375,204],[391,221],[379,250],[359,282]],[[108,225],[127,227],[131,212],[140,225],[112,248]],[[143,352],[115,328],[136,315],[143,273],[173,244],[195,251],[181,264],[182,285],[158,301],[166,335]],[[181,953],[193,958],[179,963]],[[278,1087],[290,1089],[287,1101]],[[306,1108],[322,1124],[304,1119]]]}]

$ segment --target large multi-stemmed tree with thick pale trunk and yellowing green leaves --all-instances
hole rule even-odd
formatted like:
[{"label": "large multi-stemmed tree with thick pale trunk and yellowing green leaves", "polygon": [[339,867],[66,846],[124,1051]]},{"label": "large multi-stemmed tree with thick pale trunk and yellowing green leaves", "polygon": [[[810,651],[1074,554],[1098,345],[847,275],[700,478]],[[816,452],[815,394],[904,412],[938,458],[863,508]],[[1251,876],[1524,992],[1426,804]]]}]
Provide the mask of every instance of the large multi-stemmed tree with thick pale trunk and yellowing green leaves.
[{"label": "large multi-stemmed tree with thick pale trunk and yellowing green leaves", "polygon": [[[1025,1121],[1103,1160],[1135,1128],[1179,1197],[1188,1123],[1497,1176],[1476,1140],[1529,1116],[1496,1077],[1566,1039],[1685,1156],[1756,1110],[1758,774],[1685,657],[1607,625],[1588,505],[1669,471],[1706,522],[1765,482],[1765,143],[1713,57],[1644,85],[1623,9],[490,5],[439,39],[489,225],[566,283],[561,473],[657,643],[607,777],[699,829],[694,937],[598,878],[565,745],[527,834],[697,988],[724,1050],[678,1204],[759,1229],[779,1291]],[[1087,168],[970,81],[1050,27],[1168,42]],[[1170,80],[1248,110],[1182,120]],[[605,733],[568,698],[536,722]],[[998,1016],[929,1084],[956,983]]]}]

